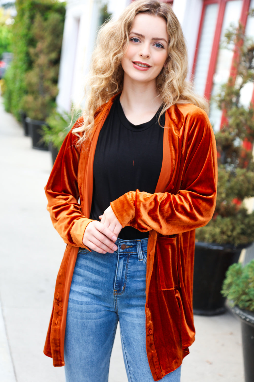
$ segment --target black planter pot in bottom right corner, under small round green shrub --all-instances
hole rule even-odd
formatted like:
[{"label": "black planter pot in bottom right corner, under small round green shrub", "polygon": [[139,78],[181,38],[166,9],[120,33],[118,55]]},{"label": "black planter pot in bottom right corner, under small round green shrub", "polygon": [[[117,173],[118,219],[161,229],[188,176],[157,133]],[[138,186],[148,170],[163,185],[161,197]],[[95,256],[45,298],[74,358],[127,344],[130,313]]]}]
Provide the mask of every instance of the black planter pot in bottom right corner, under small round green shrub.
[{"label": "black planter pot in bottom right corner, under small round green shrub", "polygon": [[254,381],[254,312],[240,309],[238,306],[228,308],[241,320],[243,362],[245,382]]}]

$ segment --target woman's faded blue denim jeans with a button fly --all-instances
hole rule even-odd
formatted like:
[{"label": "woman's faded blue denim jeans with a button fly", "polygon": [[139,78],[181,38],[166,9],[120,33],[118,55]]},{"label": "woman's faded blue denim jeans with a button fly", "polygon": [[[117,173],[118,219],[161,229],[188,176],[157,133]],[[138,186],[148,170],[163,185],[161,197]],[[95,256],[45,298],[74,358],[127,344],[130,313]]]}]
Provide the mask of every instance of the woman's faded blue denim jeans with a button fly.
[{"label": "woman's faded blue denim jeans with a button fly", "polygon": [[[117,240],[113,254],[78,251],[67,310],[67,382],[107,382],[120,323],[129,382],[153,382],[145,347],[147,240]],[[181,366],[163,377],[180,382]]]}]

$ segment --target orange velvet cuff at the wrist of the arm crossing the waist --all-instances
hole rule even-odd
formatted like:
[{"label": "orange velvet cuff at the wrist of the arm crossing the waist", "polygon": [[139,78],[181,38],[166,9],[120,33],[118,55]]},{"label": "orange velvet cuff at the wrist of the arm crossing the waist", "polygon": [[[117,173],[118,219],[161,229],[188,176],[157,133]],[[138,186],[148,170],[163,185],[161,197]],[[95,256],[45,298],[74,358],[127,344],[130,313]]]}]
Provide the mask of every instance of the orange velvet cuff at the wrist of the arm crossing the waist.
[{"label": "orange velvet cuff at the wrist of the arm crossing the waist", "polygon": [[135,191],[130,191],[110,203],[110,206],[123,227],[135,217],[135,206],[132,202],[135,200]]}]

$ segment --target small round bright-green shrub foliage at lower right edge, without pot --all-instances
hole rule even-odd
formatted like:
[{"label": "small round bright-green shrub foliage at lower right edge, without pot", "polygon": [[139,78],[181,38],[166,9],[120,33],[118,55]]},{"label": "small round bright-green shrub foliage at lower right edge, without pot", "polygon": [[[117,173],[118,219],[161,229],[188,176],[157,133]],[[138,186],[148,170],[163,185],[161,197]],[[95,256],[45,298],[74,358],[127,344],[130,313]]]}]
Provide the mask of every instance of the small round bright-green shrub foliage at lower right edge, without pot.
[{"label": "small round bright-green shrub foliage at lower right edge, without pot", "polygon": [[240,263],[230,265],[221,293],[232,301],[232,306],[254,312],[254,260],[245,267]]}]

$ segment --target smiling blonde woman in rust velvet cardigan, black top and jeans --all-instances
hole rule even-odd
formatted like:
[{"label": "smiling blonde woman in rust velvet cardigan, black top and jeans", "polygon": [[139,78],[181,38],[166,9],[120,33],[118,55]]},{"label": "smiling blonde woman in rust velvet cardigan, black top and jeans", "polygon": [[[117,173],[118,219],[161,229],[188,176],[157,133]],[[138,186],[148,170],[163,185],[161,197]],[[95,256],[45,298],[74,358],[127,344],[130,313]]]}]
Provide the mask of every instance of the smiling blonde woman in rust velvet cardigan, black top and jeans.
[{"label": "smiling blonde woman in rust velvet cardigan, black top and jeans", "polygon": [[44,353],[67,382],[107,381],[118,320],[129,381],[180,381],[195,334],[195,228],[212,217],[217,183],[186,57],[176,16],[156,0],[99,33],[83,118],[45,188],[67,248]]}]

